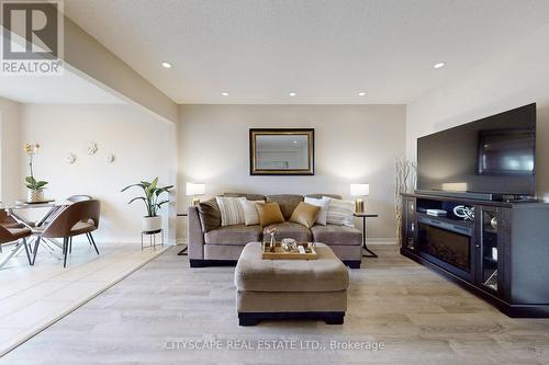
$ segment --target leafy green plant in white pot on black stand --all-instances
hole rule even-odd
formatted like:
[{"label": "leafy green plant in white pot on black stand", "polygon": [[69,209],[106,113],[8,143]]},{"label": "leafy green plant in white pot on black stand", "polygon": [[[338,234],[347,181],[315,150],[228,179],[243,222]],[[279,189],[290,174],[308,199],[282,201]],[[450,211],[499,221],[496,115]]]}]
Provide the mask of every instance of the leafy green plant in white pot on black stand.
[{"label": "leafy green plant in white pot on black stand", "polygon": [[163,220],[158,216],[158,209],[161,208],[161,206],[169,201],[160,201],[160,195],[164,193],[169,192],[173,185],[169,186],[158,186],[158,178],[155,178],[152,182],[147,181],[142,181],[138,184],[132,184],[122,190],[122,192],[125,192],[130,187],[137,186],[143,189],[144,196],[136,196],[133,199],[131,199],[127,204],[132,204],[133,202],[136,201],[143,201],[145,204],[145,208],[147,209],[147,215],[143,217],[142,226],[143,226],[143,231],[145,232],[152,232],[156,230],[160,230],[163,227]]}]

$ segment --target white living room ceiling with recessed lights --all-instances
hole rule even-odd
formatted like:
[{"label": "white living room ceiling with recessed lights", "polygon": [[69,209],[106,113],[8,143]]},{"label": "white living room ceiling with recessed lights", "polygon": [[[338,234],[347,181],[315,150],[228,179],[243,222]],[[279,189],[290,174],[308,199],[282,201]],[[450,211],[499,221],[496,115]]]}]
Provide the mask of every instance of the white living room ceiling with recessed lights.
[{"label": "white living room ceiling with recessed lights", "polygon": [[178,103],[408,103],[549,23],[545,0],[66,0],[65,12]]}]

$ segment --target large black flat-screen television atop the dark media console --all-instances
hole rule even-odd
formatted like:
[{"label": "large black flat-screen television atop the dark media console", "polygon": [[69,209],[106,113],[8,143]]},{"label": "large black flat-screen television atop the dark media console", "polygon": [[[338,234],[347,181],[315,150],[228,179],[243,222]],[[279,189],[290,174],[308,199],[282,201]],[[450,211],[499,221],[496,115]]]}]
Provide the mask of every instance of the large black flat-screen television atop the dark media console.
[{"label": "large black flat-screen television atop the dark media console", "polygon": [[424,192],[535,196],[536,104],[417,139]]}]

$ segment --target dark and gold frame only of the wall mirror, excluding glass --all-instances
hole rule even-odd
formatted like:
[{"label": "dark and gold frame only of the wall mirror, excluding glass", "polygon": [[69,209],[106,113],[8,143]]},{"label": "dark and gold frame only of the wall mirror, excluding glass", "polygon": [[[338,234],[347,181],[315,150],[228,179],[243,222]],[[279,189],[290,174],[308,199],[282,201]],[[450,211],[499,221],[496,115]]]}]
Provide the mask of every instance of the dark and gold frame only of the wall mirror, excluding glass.
[{"label": "dark and gold frame only of the wall mirror, excluding glass", "polygon": [[[256,138],[258,136],[306,136],[306,169],[258,169],[256,161]],[[314,175],[314,128],[250,128],[249,129],[249,174],[250,175]]]}]

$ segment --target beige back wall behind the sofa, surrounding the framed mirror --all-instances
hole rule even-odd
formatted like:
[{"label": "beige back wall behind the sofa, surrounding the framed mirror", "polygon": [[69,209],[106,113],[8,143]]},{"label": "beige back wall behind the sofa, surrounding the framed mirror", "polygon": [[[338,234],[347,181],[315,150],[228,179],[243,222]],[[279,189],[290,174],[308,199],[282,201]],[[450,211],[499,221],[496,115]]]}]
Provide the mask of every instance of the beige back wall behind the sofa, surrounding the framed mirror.
[{"label": "beige back wall behind the sofa, surrounding the framed mirror", "polygon": [[[370,221],[369,237],[395,240],[393,163],[405,153],[404,105],[181,105],[179,113],[180,209],[188,204],[188,181],[204,182],[209,196],[227,191],[321,192],[347,198],[349,183],[367,182],[367,207],[380,214]],[[250,176],[253,127],[315,128],[315,175]]]}]

